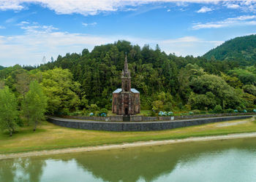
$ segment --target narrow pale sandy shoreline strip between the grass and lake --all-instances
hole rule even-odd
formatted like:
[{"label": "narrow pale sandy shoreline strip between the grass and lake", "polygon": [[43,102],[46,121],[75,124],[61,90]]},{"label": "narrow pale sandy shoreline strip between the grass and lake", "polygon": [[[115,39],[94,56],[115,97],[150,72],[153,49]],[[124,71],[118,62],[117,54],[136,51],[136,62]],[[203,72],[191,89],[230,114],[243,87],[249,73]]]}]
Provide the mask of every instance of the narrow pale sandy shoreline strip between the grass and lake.
[{"label": "narrow pale sandy shoreline strip between the grass and lake", "polygon": [[165,141],[138,141],[134,143],[121,143],[121,144],[109,144],[103,146],[85,146],[85,147],[76,147],[76,148],[66,148],[66,149],[51,149],[51,150],[42,150],[42,151],[27,151],[20,153],[12,154],[0,154],[1,159],[13,159],[19,157],[37,157],[37,156],[46,156],[54,154],[69,154],[83,151],[103,151],[110,149],[126,149],[132,147],[140,146],[160,146],[174,143],[186,143],[186,142],[196,142],[196,141],[218,141],[218,140],[230,140],[238,138],[256,138],[256,132],[244,132],[244,133],[235,133],[228,135],[213,135],[205,137],[192,137],[192,138],[183,138],[183,139],[171,139]]}]

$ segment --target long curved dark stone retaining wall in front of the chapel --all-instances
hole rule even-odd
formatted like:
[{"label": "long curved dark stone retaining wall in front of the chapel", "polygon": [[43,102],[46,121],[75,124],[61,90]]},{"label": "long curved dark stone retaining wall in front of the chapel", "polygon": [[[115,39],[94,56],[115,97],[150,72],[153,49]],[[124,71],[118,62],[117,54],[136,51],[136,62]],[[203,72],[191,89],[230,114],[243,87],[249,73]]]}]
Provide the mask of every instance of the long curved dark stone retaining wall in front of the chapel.
[{"label": "long curved dark stone retaining wall in front of the chapel", "polygon": [[187,119],[169,122],[97,122],[82,121],[78,119],[63,119],[48,117],[48,121],[62,127],[71,127],[84,130],[105,130],[105,131],[153,131],[170,130],[177,127],[189,127],[192,125],[207,124],[212,122],[224,122],[235,119],[247,119],[252,116],[227,116],[204,119]]}]

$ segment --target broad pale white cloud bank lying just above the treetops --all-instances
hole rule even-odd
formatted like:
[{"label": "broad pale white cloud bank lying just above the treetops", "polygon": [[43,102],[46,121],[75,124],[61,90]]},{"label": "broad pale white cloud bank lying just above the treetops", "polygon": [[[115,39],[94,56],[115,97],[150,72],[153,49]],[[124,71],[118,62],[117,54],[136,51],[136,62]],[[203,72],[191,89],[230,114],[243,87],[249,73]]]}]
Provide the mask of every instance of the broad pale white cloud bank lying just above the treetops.
[{"label": "broad pale white cloud bank lying just above the treetops", "polygon": [[167,54],[175,52],[176,55],[203,55],[208,50],[221,44],[222,41],[205,41],[194,36],[184,36],[178,39],[140,39],[132,36],[106,36],[89,35],[84,33],[68,33],[59,31],[52,25],[39,25],[29,23],[21,25],[22,35],[0,36],[0,65],[12,66],[16,63],[23,65],[36,65],[42,62],[43,56],[57,58],[67,52],[81,52],[84,48],[92,50],[94,46],[108,44],[124,39],[143,47],[149,44],[155,47],[159,44],[161,50]]}]

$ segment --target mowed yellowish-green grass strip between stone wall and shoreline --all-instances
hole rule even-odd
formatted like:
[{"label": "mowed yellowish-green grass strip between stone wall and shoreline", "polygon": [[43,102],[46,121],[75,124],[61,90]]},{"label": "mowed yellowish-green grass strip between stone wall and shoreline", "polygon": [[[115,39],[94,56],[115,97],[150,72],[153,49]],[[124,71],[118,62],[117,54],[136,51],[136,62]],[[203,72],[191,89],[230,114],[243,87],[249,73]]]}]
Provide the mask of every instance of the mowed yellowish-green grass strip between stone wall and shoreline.
[{"label": "mowed yellowish-green grass strip between stone wall and shoreline", "polygon": [[[237,123],[238,122],[238,123]],[[223,123],[229,123],[223,124]],[[254,119],[218,122],[173,130],[151,132],[106,132],[77,130],[59,127],[49,122],[39,125],[36,132],[32,127],[22,127],[12,137],[7,132],[0,133],[0,154],[63,149],[78,146],[99,146],[111,143],[131,143],[135,141],[167,140],[207,135],[226,135],[230,133],[256,132]]]}]

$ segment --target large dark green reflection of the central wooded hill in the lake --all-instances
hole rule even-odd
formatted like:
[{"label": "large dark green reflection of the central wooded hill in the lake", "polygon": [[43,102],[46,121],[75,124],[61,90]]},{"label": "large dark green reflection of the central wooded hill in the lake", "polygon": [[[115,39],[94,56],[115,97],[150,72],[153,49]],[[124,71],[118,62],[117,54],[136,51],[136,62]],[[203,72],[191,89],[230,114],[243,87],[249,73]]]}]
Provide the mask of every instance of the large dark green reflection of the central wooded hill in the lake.
[{"label": "large dark green reflection of the central wooded hill in the lake", "polygon": [[[103,181],[154,181],[171,173],[179,162],[197,159],[202,154],[215,153],[238,146],[244,141],[207,141],[151,146],[140,149],[87,152],[75,157],[79,165]],[[248,146],[248,145],[247,145]]]}]

